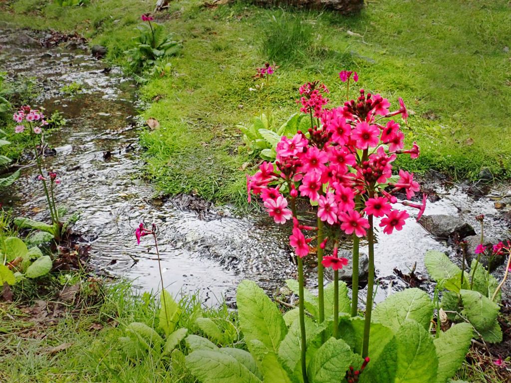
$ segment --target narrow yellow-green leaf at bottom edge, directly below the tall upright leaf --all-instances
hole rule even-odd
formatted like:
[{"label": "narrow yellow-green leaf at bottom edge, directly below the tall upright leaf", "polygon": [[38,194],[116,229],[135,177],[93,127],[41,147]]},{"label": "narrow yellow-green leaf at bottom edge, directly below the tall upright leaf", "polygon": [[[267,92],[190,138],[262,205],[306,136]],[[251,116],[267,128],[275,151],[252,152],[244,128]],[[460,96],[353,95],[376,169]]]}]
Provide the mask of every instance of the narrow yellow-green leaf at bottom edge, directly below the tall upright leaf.
[{"label": "narrow yellow-green leaf at bottom edge, directly below the tall upright leaf", "polygon": [[247,346],[258,365],[259,371],[263,374],[265,383],[292,383],[284,362],[275,351],[270,350],[263,342],[258,340],[250,341]]}]

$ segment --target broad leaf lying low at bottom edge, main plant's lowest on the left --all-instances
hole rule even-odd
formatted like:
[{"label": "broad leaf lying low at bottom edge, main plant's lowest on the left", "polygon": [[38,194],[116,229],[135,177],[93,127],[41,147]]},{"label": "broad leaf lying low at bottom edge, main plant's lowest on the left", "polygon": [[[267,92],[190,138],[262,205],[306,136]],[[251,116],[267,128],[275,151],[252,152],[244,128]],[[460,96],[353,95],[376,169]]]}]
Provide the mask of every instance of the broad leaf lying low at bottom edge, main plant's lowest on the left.
[{"label": "broad leaf lying low at bottom edge, main plant's lowest on the left", "polygon": [[217,350],[197,350],[185,356],[187,367],[202,383],[260,383],[261,379],[233,356]]}]

